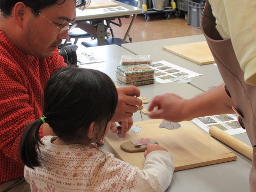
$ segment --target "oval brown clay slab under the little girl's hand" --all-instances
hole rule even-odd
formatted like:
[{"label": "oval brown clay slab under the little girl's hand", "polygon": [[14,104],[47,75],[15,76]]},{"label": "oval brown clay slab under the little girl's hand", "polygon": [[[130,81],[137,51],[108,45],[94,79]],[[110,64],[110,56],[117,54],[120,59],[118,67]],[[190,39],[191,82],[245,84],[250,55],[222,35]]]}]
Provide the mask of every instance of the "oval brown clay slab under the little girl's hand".
[{"label": "oval brown clay slab under the little girl's hand", "polygon": [[[139,144],[139,142],[141,143],[146,143],[146,144],[142,144],[142,145],[137,145],[135,146],[133,144],[133,142],[137,142],[137,144]],[[152,144],[159,144],[155,139],[151,139],[151,138],[143,138],[143,139],[134,139],[134,140],[129,140],[126,141],[124,143],[122,143],[120,145],[121,149],[125,152],[130,152],[130,153],[134,153],[134,152],[144,152],[146,151],[146,147],[148,143],[152,143]]]}]

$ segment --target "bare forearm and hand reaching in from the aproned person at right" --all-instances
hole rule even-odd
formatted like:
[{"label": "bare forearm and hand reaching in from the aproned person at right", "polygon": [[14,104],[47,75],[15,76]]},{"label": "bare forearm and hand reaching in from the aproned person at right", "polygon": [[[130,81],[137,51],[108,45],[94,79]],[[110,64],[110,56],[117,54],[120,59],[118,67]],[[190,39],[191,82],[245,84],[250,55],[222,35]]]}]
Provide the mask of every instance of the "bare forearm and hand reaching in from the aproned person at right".
[{"label": "bare forearm and hand reaching in from the aproned person at right", "polygon": [[[223,86],[224,83],[191,99],[182,99],[172,93],[158,95],[150,104],[149,117],[180,122],[197,117],[233,113],[233,100],[225,94]],[[158,106],[157,110],[153,110],[155,106]]]}]

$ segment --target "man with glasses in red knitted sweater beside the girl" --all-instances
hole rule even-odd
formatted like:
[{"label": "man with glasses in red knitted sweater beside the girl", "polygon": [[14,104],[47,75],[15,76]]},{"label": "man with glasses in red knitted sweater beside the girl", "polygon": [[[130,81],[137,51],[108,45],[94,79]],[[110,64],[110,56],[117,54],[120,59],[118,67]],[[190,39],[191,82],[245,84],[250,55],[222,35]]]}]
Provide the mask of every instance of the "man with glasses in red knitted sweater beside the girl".
[{"label": "man with glasses in red knitted sweater beside the girl", "polygon": [[[0,191],[30,191],[18,153],[26,125],[42,116],[45,84],[67,66],[57,46],[68,38],[76,18],[75,7],[89,0],[0,1]],[[118,88],[119,102],[113,122],[122,121],[122,135],[141,105],[140,91]],[[68,118],[68,117],[67,117]],[[112,131],[117,129],[113,124]],[[50,135],[46,123],[40,136]]]}]

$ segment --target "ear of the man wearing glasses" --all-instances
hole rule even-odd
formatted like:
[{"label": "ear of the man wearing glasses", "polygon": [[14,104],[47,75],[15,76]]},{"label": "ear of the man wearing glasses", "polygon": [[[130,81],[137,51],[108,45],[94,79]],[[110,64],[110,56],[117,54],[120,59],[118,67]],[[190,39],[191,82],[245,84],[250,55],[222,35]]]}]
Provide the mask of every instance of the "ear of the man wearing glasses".
[{"label": "ear of the man wearing glasses", "polygon": [[13,18],[15,20],[15,23],[19,27],[23,26],[24,15],[28,11],[29,11],[29,7],[27,7],[23,2],[18,2],[18,3],[15,4],[15,6],[13,8],[12,15],[13,15]]}]

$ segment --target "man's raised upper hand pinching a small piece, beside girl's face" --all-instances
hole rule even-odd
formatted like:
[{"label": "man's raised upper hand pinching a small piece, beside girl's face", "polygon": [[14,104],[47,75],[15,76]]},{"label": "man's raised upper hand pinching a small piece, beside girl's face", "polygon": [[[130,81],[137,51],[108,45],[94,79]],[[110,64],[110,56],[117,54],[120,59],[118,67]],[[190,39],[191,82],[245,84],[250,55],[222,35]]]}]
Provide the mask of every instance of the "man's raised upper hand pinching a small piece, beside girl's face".
[{"label": "man's raised upper hand pinching a small piece, beside girl's face", "polygon": [[[133,113],[138,111],[142,101],[135,96],[140,96],[140,90],[135,86],[117,88],[118,104],[112,122],[119,122],[131,118]],[[137,106],[136,106],[137,105]]]}]

